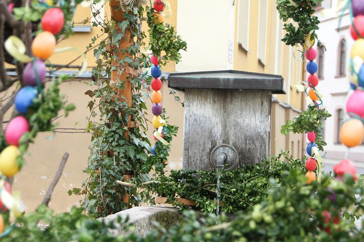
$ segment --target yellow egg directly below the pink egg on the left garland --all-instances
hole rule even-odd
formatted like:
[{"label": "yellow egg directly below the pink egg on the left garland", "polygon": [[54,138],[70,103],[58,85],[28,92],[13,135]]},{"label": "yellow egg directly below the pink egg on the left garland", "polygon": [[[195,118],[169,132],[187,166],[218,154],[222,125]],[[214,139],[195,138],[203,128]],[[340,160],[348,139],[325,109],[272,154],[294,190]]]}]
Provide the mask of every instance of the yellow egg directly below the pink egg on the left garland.
[{"label": "yellow egg directly below the pink egg on the left garland", "polygon": [[16,159],[20,151],[16,146],[8,146],[0,154],[0,172],[1,174],[12,177],[19,171]]}]

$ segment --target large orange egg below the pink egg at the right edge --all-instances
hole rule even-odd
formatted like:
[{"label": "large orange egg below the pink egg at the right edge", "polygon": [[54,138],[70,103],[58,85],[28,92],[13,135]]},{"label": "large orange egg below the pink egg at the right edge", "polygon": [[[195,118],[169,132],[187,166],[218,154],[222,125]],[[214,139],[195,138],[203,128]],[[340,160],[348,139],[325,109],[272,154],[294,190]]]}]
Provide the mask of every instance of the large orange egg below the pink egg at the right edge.
[{"label": "large orange egg below the pink egg at the right edge", "polygon": [[349,148],[362,144],[363,138],[364,126],[358,119],[346,121],[340,129],[340,140]]}]

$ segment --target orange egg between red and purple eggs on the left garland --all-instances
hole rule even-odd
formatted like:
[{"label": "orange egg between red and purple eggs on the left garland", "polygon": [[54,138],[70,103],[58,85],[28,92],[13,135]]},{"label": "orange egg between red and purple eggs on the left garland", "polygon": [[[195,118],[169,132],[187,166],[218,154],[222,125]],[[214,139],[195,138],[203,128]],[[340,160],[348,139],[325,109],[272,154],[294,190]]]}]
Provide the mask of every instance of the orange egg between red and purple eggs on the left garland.
[{"label": "orange egg between red and purple eggs on the left garland", "polygon": [[43,60],[53,55],[56,48],[56,38],[49,31],[41,32],[34,38],[32,43],[33,56],[40,57]]}]

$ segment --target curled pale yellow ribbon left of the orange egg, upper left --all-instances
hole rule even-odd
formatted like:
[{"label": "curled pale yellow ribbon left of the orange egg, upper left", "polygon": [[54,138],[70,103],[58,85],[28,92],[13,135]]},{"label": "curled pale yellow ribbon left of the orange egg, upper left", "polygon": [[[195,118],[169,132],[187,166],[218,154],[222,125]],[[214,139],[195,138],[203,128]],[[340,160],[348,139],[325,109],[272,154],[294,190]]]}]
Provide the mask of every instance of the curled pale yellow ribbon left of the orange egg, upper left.
[{"label": "curled pale yellow ribbon left of the orange egg, upper left", "polygon": [[13,56],[16,60],[27,63],[32,60],[31,57],[25,55],[26,47],[20,38],[16,36],[10,36],[4,43],[5,50]]}]

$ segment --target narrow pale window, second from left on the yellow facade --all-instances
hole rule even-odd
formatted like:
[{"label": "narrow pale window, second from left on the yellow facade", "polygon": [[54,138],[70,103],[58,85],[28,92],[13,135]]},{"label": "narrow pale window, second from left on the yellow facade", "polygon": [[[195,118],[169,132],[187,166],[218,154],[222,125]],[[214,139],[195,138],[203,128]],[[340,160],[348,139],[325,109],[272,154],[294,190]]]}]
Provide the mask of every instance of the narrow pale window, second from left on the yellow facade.
[{"label": "narrow pale window, second from left on the yellow facade", "polygon": [[268,0],[259,0],[258,16],[258,60],[265,65],[267,48]]}]

